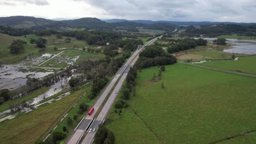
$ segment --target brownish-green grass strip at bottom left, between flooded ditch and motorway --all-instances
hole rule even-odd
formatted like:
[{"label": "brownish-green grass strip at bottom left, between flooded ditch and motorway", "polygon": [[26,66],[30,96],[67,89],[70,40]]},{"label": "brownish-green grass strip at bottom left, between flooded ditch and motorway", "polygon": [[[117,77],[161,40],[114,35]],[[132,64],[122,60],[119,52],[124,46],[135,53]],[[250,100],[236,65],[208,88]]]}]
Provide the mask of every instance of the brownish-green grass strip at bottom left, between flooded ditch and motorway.
[{"label": "brownish-green grass strip at bottom left, between flooded ditch and motorway", "polygon": [[54,124],[60,121],[85,89],[86,87],[52,104],[1,122],[1,143],[34,143],[44,136],[46,131],[53,129]]}]

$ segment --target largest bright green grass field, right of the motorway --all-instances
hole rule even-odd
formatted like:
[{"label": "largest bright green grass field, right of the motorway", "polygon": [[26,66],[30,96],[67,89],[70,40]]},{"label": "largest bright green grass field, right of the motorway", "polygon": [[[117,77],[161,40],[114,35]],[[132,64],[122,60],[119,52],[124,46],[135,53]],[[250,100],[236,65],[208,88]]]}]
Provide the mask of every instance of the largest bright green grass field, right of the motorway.
[{"label": "largest bright green grass field, right of the motorway", "polygon": [[165,143],[210,143],[256,130],[256,79],[177,63],[152,82],[158,70],[142,70],[121,116],[110,111],[116,143],[145,143],[141,137],[153,135],[148,127]]}]

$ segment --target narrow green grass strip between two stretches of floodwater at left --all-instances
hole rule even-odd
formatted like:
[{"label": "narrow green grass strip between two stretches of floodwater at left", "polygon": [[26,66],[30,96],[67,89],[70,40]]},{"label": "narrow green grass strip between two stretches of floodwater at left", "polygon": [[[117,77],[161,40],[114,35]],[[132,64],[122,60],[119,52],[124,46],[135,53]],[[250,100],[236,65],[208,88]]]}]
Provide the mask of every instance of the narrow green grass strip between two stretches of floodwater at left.
[{"label": "narrow green grass strip between two stretches of floodwater at left", "polygon": [[32,100],[33,98],[38,97],[40,94],[43,94],[46,91],[48,91],[48,89],[49,89],[49,87],[42,87],[42,88],[39,88],[36,91],[33,91],[32,93],[26,95],[25,97],[11,99],[9,101],[6,101],[2,105],[0,105],[0,112],[10,109],[10,105],[12,103],[14,103],[14,104],[22,104],[23,101]]}]

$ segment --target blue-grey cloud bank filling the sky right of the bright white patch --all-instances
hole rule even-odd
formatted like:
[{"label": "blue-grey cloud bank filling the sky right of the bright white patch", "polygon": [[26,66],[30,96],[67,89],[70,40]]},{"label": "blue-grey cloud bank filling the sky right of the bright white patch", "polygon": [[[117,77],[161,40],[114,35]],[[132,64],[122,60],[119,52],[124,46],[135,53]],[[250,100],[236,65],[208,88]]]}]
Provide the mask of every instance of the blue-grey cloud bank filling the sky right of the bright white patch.
[{"label": "blue-grey cloud bank filling the sky right of the bright white patch", "polygon": [[124,19],[180,21],[249,21],[255,0],[73,0],[104,10],[103,15]]}]

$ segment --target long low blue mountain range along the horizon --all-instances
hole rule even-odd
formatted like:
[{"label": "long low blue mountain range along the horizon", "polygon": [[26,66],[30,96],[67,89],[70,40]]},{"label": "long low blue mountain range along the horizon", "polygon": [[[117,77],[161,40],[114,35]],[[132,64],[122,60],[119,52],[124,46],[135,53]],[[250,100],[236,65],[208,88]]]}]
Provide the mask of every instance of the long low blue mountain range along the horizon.
[{"label": "long low blue mountain range along the horizon", "polygon": [[146,24],[153,24],[153,23],[170,23],[172,25],[218,25],[218,24],[236,24],[236,25],[251,25],[252,23],[238,23],[238,22],[210,22],[210,21],[152,21],[152,20],[125,20],[125,19],[110,19],[110,20],[104,20],[109,23],[115,23],[115,22],[136,22],[136,23],[146,23]]}]

